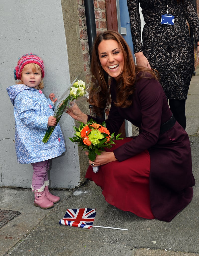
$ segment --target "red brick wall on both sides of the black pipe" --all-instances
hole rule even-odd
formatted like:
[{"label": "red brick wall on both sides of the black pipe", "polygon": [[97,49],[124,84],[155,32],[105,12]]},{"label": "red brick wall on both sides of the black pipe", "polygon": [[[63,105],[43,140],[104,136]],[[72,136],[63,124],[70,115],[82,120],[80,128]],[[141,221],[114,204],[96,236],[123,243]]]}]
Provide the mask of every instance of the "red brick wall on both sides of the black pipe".
[{"label": "red brick wall on both sides of the black pipe", "polygon": [[[94,12],[97,34],[101,31],[107,30],[106,24],[106,7],[105,0],[94,0]],[[84,70],[89,70],[90,57],[89,57],[89,44],[86,29],[86,17],[84,9],[84,1],[78,0],[78,12],[79,12],[79,29],[80,40],[82,45],[82,54],[84,59]]]}]

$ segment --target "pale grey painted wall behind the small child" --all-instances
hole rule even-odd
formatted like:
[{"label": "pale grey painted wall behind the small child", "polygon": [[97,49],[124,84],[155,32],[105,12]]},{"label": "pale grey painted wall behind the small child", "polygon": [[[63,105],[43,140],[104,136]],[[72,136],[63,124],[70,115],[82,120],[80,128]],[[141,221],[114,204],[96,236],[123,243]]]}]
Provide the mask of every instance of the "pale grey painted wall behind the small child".
[{"label": "pale grey painted wall behind the small child", "polygon": [[[15,153],[13,105],[6,88],[15,84],[13,70],[18,58],[32,52],[45,65],[45,96],[60,97],[70,85],[67,45],[61,0],[0,1],[0,187],[30,188],[32,166],[18,164]],[[65,114],[60,121],[67,151],[52,159],[48,178],[52,188],[79,185],[79,157],[72,137],[73,120]]]}]

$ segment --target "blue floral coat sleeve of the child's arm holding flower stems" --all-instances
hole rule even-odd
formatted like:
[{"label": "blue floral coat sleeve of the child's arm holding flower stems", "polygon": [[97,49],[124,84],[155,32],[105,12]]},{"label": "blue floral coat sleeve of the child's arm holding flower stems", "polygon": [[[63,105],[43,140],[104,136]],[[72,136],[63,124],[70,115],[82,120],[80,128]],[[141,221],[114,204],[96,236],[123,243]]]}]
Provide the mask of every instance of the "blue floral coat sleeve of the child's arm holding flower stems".
[{"label": "blue floral coat sleeve of the child's arm holding flower stems", "polygon": [[28,95],[19,93],[15,98],[14,106],[24,125],[47,130],[48,116],[35,114],[34,102]]}]

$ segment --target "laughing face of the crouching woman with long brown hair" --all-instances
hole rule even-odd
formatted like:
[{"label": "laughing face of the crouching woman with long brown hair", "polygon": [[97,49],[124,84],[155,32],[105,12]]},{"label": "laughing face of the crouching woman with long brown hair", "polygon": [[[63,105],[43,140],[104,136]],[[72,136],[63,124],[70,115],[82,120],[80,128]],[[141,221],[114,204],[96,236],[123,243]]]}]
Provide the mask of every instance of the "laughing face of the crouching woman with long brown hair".
[{"label": "laughing face of the crouching woman with long brown hair", "polygon": [[98,45],[98,55],[103,69],[117,81],[124,68],[124,57],[118,42],[102,40]]}]

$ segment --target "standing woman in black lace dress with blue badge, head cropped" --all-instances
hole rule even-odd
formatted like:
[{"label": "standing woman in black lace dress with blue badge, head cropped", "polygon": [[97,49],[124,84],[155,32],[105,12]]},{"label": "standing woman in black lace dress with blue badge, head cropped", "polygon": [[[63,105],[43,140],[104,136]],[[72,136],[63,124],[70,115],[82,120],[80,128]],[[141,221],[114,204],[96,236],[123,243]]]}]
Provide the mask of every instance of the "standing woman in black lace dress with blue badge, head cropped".
[{"label": "standing woman in black lace dress with blue badge, head cropped", "polygon": [[[143,42],[139,2],[146,23],[142,32]],[[199,21],[193,0],[127,0],[127,5],[136,64],[158,70],[170,109],[185,129],[185,101],[194,68],[186,19],[199,52]],[[167,17],[170,15],[174,17]],[[161,24],[161,20],[173,25]]]}]

